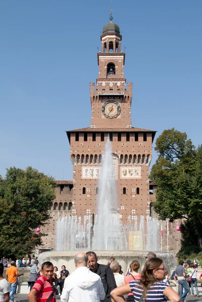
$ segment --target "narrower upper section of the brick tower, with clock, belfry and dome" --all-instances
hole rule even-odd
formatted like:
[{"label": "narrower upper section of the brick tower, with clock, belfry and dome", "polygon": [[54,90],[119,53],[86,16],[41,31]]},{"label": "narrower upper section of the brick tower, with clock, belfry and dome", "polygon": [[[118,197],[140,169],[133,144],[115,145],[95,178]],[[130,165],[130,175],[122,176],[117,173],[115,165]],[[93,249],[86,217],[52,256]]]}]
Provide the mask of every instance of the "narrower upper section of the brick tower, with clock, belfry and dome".
[{"label": "narrower upper section of the brick tower, with clock, belfry and dome", "polygon": [[110,22],[105,24],[101,35],[96,88],[95,83],[90,83],[91,128],[131,128],[132,83],[127,83],[126,89],[122,36],[119,26],[112,20],[110,16]]}]

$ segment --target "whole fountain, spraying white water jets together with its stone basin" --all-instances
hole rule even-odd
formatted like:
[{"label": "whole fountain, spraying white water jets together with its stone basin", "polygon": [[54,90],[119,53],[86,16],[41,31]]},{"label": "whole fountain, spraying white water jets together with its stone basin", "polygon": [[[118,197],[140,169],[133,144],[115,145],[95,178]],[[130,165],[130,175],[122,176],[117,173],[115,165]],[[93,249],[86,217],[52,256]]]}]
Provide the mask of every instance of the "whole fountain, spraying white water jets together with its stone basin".
[{"label": "whole fountain, spraying white water jets together with its stone basin", "polygon": [[[54,265],[59,267],[65,264],[72,271],[77,251],[94,250],[100,263],[106,264],[109,256],[113,255],[126,270],[134,259],[144,265],[147,251],[158,251],[157,219],[149,216],[145,219],[142,215],[139,219],[133,216],[132,220],[128,216],[125,224],[120,221],[115,174],[116,166],[108,138],[99,179],[97,215],[93,219],[90,215],[85,215],[83,219],[77,216],[58,219],[55,251],[39,255],[40,262],[52,260]],[[157,255],[164,260],[166,267],[174,266],[173,255],[162,252],[157,252]]]}]

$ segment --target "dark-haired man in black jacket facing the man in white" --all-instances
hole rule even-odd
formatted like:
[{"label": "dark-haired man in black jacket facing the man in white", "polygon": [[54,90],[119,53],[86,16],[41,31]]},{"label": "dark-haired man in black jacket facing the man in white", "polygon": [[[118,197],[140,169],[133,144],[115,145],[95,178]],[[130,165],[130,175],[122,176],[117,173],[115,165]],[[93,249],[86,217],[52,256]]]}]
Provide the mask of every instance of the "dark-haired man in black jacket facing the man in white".
[{"label": "dark-haired man in black jacket facing the man in white", "polygon": [[110,292],[116,287],[112,269],[109,267],[109,265],[99,264],[97,262],[98,258],[95,252],[90,251],[86,254],[88,255],[89,269],[98,274],[102,280],[105,291],[105,298],[102,301],[111,302]]}]

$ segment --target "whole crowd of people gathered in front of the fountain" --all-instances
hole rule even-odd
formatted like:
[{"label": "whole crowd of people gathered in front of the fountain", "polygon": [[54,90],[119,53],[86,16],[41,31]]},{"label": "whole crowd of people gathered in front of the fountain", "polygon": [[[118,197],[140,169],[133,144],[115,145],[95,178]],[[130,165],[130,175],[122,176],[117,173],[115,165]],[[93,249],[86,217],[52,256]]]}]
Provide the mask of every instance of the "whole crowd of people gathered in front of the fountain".
[{"label": "whole crowd of people gathered in front of the fountain", "polygon": [[[188,259],[189,260],[189,259]],[[34,259],[30,268],[28,284],[29,302],[55,302],[55,294],[61,302],[147,302],[184,301],[191,288],[194,296],[197,288],[197,265],[189,261],[179,261],[170,277],[163,261],[153,252],[146,256],[146,263],[140,272],[140,263],[133,260],[128,270],[123,273],[118,261],[110,257],[106,265],[98,263],[95,252],[80,252],[75,256],[76,270],[70,274],[65,265],[61,270],[49,261],[39,269],[38,260]],[[198,263],[197,263],[198,264]],[[19,275],[17,263],[11,261],[3,277],[4,264],[0,263],[0,302],[14,302]],[[202,281],[202,274],[200,275]],[[8,280],[8,282],[7,282]],[[170,281],[176,284],[176,291]],[[193,287],[194,285],[194,287]]]}]

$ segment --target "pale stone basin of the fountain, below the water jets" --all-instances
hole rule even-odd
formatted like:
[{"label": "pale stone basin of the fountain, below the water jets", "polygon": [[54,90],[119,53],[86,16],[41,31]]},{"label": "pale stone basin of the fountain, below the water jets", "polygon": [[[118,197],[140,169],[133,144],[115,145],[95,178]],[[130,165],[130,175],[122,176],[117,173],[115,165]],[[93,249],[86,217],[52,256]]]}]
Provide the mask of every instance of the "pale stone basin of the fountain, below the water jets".
[{"label": "pale stone basin of the fountain, below the water jets", "polygon": [[[88,251],[82,251],[84,253]],[[79,251],[51,251],[51,252],[44,252],[38,256],[39,260],[39,267],[45,261],[50,261],[53,263],[54,266],[57,266],[58,270],[61,270],[61,266],[65,265],[66,269],[72,273],[75,271],[75,263],[74,257],[79,253]],[[109,258],[113,256],[116,261],[122,267],[123,273],[127,271],[129,268],[129,264],[133,260],[138,260],[140,262],[142,270],[143,266],[146,262],[146,256],[148,251],[95,251],[98,257],[98,263],[100,264],[107,264]],[[158,258],[161,258],[165,264],[166,269],[170,273],[173,268],[176,267],[176,260],[174,255],[171,253],[164,253],[164,252],[154,252]]]}]

